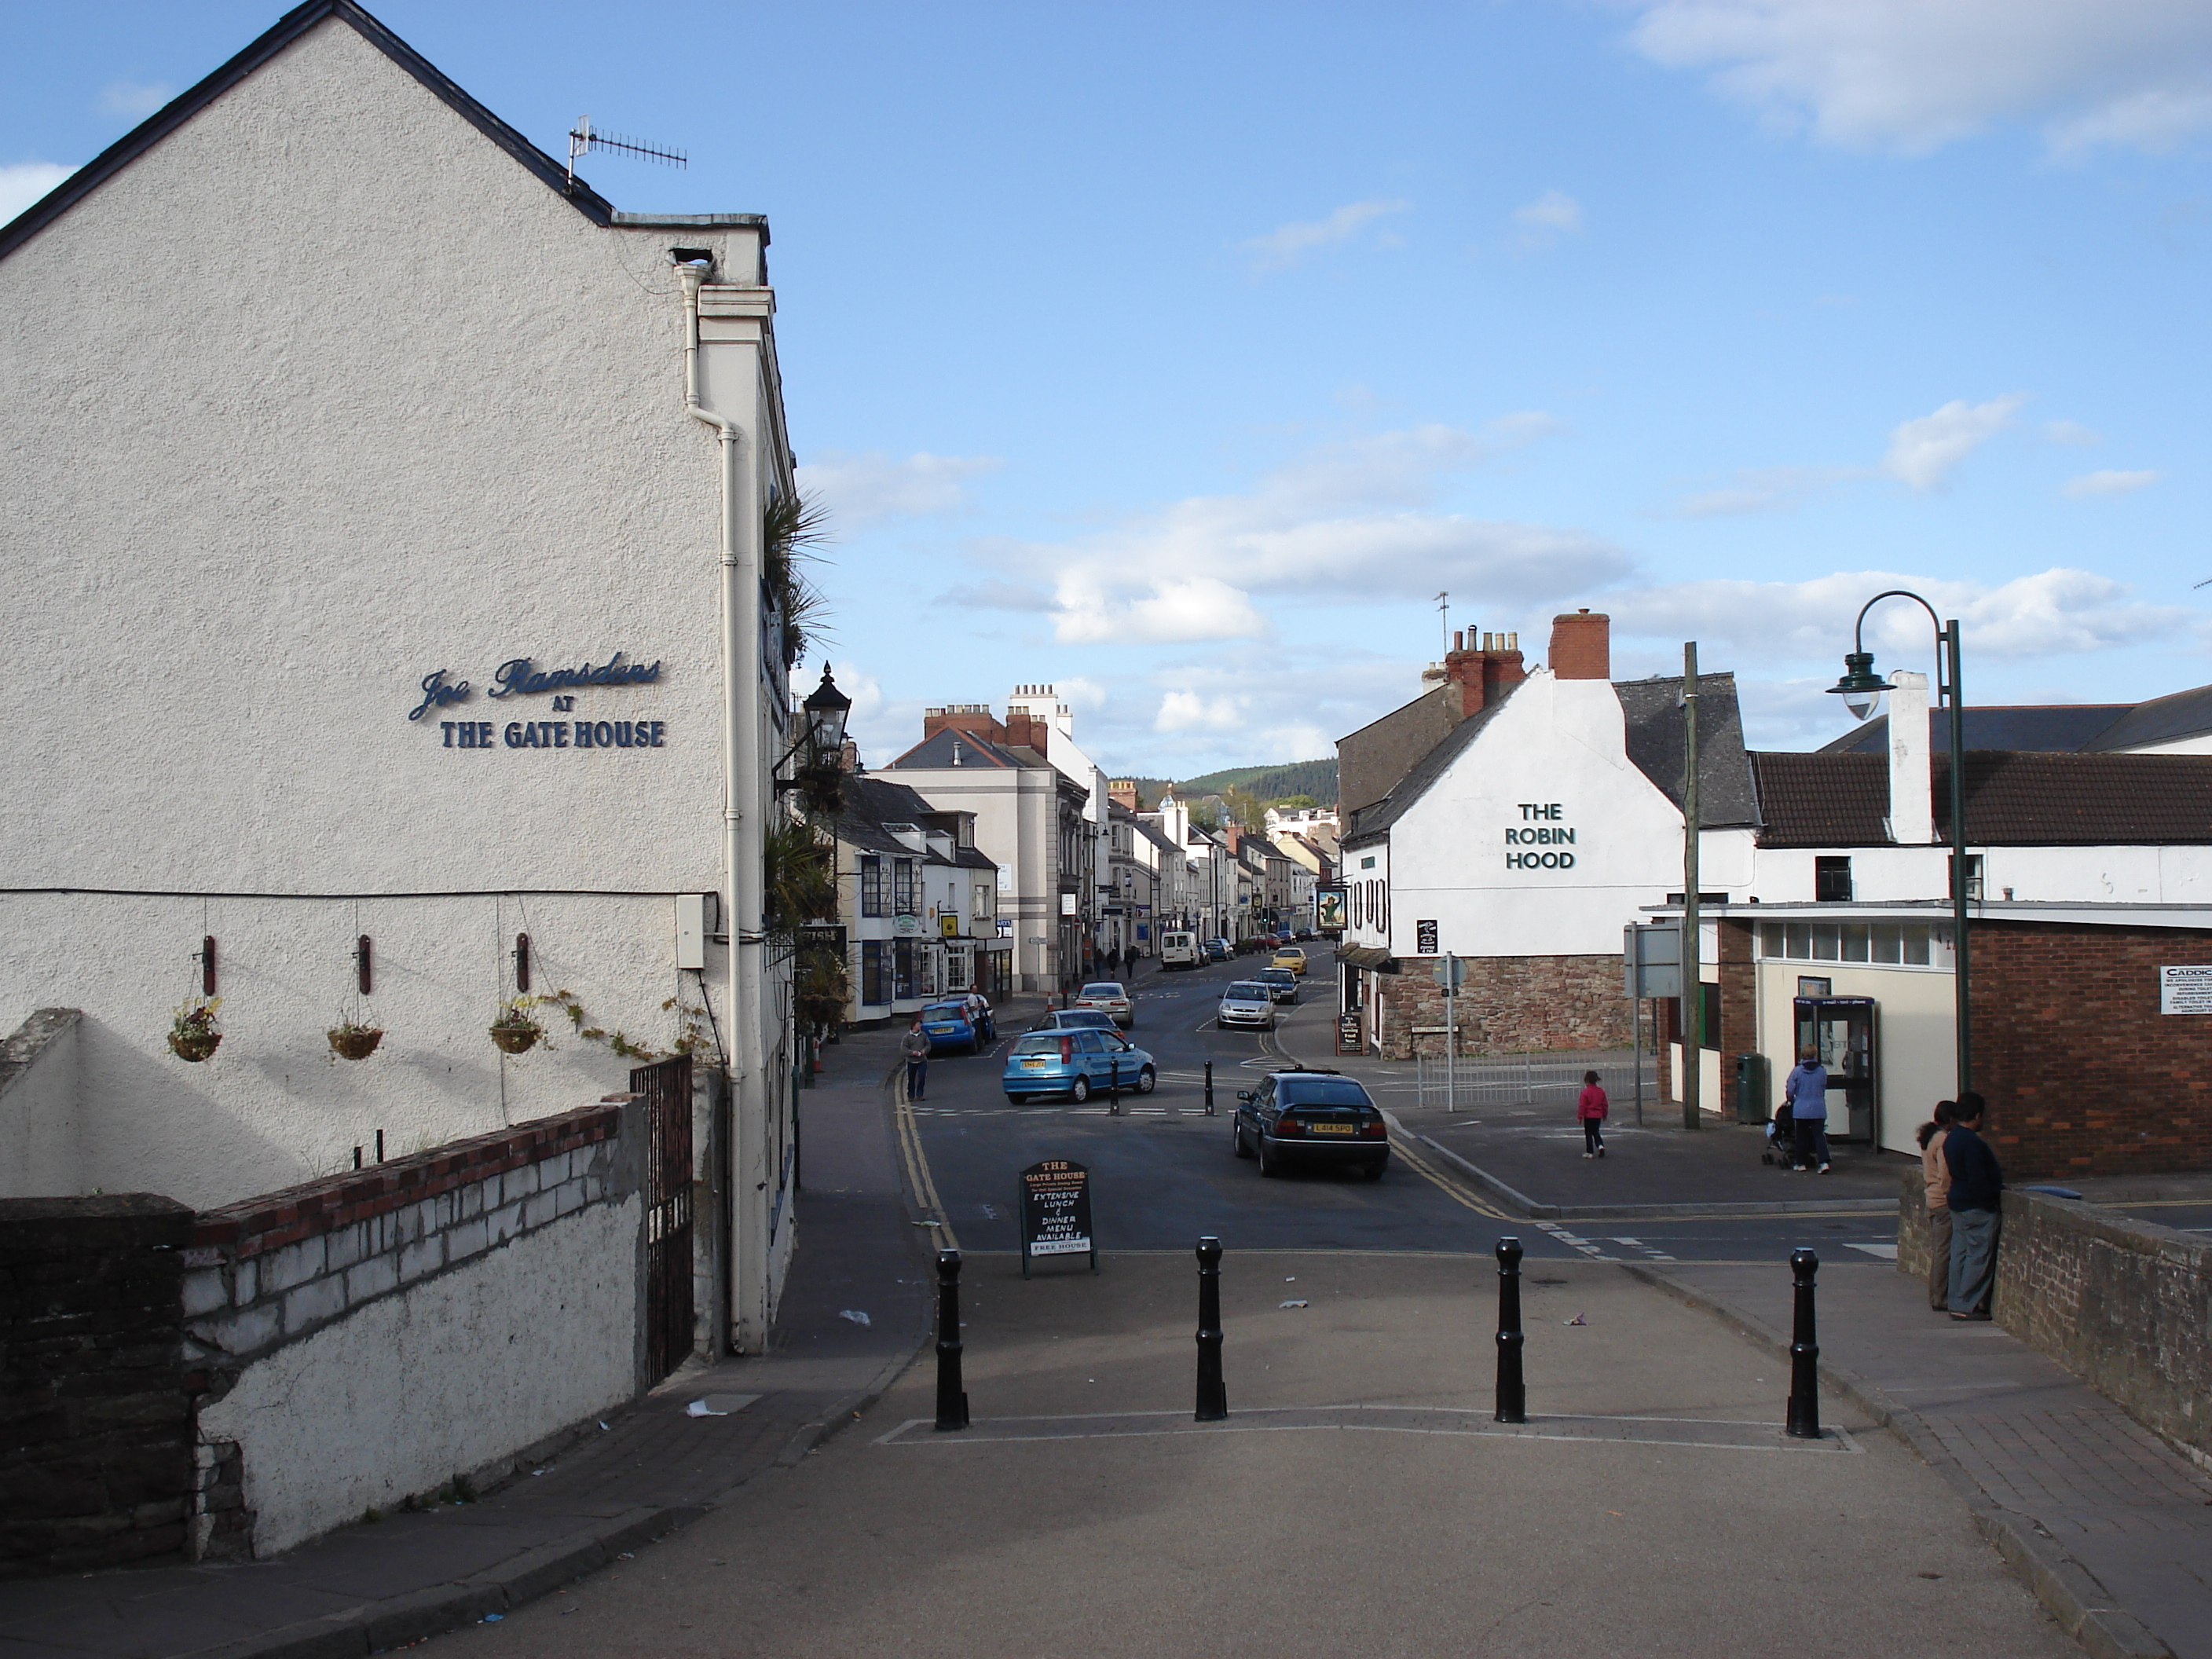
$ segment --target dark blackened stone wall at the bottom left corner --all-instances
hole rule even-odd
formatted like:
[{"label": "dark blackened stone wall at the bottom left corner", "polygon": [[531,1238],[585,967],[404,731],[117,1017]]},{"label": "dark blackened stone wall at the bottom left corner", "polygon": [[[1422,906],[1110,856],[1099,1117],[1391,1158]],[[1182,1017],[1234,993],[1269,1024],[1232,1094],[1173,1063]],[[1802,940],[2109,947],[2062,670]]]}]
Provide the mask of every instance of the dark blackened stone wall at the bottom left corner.
[{"label": "dark blackened stone wall at the bottom left corner", "polygon": [[190,1237],[190,1210],[144,1192],[0,1199],[0,1575],[184,1548]]}]

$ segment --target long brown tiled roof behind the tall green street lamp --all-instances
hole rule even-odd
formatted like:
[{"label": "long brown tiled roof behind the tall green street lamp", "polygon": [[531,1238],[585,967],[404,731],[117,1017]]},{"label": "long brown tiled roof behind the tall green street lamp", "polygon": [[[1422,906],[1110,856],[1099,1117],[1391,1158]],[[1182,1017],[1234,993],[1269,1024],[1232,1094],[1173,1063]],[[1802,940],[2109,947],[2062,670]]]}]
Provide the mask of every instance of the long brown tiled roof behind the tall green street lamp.
[{"label": "long brown tiled roof behind the tall green street lamp", "polygon": [[[1882,847],[1882,754],[1754,754],[1763,847]],[[1936,834],[1951,836],[1951,757],[1929,768]],[[1966,752],[1966,841],[1978,847],[2212,843],[2212,754]]]}]

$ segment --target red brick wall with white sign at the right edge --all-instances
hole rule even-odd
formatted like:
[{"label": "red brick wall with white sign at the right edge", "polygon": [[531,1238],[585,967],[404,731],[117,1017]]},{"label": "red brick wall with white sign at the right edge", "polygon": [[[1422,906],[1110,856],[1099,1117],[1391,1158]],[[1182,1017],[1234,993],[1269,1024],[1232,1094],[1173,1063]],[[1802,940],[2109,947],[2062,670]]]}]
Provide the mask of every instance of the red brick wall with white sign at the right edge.
[{"label": "red brick wall with white sign at the right edge", "polygon": [[1973,1082],[2011,1181],[2212,1166],[2212,1015],[2159,1013],[2159,969],[2212,933],[1975,922]]}]

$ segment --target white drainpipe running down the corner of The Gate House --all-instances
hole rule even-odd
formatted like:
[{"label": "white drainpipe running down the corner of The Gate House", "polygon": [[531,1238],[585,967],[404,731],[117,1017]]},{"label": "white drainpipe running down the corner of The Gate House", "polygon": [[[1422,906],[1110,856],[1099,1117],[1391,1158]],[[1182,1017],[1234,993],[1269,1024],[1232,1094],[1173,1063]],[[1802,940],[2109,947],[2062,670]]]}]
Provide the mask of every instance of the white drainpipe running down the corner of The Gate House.
[{"label": "white drainpipe running down the corner of The Gate House", "polygon": [[721,763],[723,863],[730,880],[730,1347],[768,1345],[768,1086],[761,1037],[761,507],[745,429],[699,403],[699,283],[684,285],[684,409],[721,438]]}]

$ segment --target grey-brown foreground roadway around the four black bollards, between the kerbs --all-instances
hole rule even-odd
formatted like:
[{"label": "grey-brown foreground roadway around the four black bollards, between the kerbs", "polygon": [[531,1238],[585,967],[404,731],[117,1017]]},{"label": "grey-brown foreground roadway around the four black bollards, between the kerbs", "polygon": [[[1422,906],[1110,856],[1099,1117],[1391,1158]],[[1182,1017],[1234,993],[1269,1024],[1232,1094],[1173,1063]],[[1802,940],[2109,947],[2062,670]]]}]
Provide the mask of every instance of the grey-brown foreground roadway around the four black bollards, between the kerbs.
[{"label": "grey-brown foreground roadway around the four black bollards, between the kerbs", "polygon": [[1774,1358],[1613,1267],[1531,1272],[1511,1433],[1480,1256],[1232,1254],[1210,1427],[1188,1254],[967,1276],[971,1431],[927,1427],[920,1365],[865,1433],[429,1652],[2073,1652],[1900,1442],[1840,1405],[1787,1442]]}]

